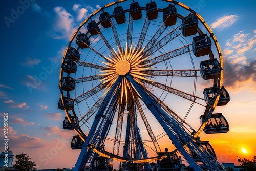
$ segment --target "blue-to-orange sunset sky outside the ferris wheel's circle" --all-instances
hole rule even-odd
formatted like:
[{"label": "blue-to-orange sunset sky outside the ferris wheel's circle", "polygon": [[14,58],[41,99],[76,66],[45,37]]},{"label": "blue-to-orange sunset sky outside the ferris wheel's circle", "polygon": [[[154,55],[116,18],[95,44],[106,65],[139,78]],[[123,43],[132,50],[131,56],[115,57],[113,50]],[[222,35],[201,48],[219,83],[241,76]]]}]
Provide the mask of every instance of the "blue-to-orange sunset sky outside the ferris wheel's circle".
[{"label": "blue-to-orange sunset sky outside the ferris wheel's circle", "polygon": [[[0,116],[4,112],[9,115],[10,149],[14,154],[28,154],[38,168],[71,168],[79,155],[79,151],[70,149],[75,132],[62,129],[65,114],[57,106],[61,60],[80,23],[110,2],[12,0],[2,3]],[[208,139],[216,144],[222,140],[224,147],[220,149],[224,151],[232,145],[233,153],[219,153],[224,162],[236,162],[236,155],[252,159],[256,152],[253,147],[256,3],[181,2],[205,19],[220,43],[224,58],[224,86],[231,101],[222,112],[231,129],[226,135],[208,136]],[[2,130],[2,121],[0,125]],[[240,152],[242,147],[247,148],[247,154]]]}]

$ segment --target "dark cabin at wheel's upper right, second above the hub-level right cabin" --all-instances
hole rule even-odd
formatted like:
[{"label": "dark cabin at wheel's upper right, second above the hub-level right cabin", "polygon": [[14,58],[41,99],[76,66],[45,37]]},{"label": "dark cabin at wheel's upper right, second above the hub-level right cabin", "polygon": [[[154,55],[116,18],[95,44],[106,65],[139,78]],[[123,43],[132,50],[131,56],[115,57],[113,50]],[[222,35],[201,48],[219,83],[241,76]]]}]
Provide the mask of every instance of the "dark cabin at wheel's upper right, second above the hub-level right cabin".
[{"label": "dark cabin at wheel's upper right, second above the hub-level right cabin", "polygon": [[183,36],[191,36],[197,33],[198,19],[196,16],[189,14],[182,18],[181,30]]}]

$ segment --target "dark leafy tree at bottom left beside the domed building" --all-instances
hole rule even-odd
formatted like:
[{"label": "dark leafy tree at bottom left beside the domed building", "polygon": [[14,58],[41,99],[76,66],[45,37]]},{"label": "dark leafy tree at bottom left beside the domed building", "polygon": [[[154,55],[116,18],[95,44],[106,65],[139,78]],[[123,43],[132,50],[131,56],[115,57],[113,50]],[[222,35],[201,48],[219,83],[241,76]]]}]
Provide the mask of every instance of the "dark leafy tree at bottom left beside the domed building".
[{"label": "dark leafy tree at bottom left beside the domed building", "polygon": [[26,154],[22,153],[19,155],[16,155],[16,164],[13,164],[12,166],[19,169],[19,171],[28,171],[28,170],[35,170],[36,164],[33,161],[30,161],[31,158],[27,156]]}]

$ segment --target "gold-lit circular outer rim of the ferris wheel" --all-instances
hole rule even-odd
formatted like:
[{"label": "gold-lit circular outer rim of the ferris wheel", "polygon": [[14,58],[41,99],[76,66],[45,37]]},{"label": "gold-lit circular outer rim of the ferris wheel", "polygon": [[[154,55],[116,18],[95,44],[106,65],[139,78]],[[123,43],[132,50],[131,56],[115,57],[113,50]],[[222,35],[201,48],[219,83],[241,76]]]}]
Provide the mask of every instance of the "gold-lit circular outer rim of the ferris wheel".
[{"label": "gold-lit circular outer rim of the ferris wheel", "polygon": [[[115,5],[115,4],[118,4],[118,3],[121,3],[121,2],[125,2],[125,1],[127,1],[127,0],[119,0],[119,1],[116,1],[116,2],[109,3],[109,4],[105,5],[104,7],[98,9],[97,11],[95,11],[92,15],[90,15],[88,18],[86,18],[86,19],[81,23],[81,25],[79,26],[79,28],[75,31],[75,33],[74,33],[73,36],[71,37],[70,42],[69,42],[69,45],[68,45],[68,47],[67,47],[66,50],[65,50],[65,53],[64,53],[63,59],[62,59],[62,64],[61,64],[62,66],[63,66],[63,62],[65,61],[65,57],[66,57],[66,54],[67,54],[67,50],[68,50],[68,48],[71,46],[71,44],[72,44],[72,42],[73,42],[75,36],[77,35],[77,33],[79,32],[79,30],[81,29],[81,27],[83,27],[86,23],[88,23],[88,21],[90,21],[90,19],[91,19],[93,16],[97,15],[99,12],[101,12],[101,11],[104,10],[105,8],[109,8],[109,7],[111,7],[111,6]],[[220,68],[221,68],[221,73],[220,73],[220,78],[219,78],[219,83],[218,83],[218,90],[220,90],[220,88],[223,86],[223,57],[222,57],[222,53],[221,53],[221,49],[220,49],[219,42],[218,42],[216,36],[214,35],[214,33],[212,32],[211,28],[209,27],[209,25],[205,22],[205,20],[204,20],[198,13],[196,13],[194,10],[190,9],[190,8],[189,8],[188,6],[186,6],[185,4],[180,3],[180,2],[177,2],[177,1],[172,1],[172,0],[162,0],[162,1],[169,2],[169,3],[174,3],[175,5],[179,5],[180,7],[182,7],[182,8],[184,8],[184,9],[190,11],[191,13],[195,14],[195,16],[200,20],[200,22],[203,24],[203,26],[205,27],[205,29],[208,31],[210,37],[214,40],[214,44],[215,44],[215,47],[216,47],[217,52],[218,52],[218,55],[219,55],[219,62],[220,62]],[[129,10],[129,9],[128,9],[128,10]],[[158,9],[158,11],[159,11],[159,9]],[[181,15],[179,15],[179,14],[177,13],[177,17],[181,19],[183,16],[181,16]],[[198,33],[200,33],[200,32],[202,33],[202,31],[200,30],[200,28],[198,28],[198,31],[197,31],[197,32],[198,32]],[[211,57],[213,57],[211,50],[210,50],[210,53],[211,53],[211,54],[209,54],[209,56],[210,56],[210,58],[211,58]],[[60,98],[61,98],[62,104],[64,104],[64,95],[63,95],[63,90],[61,89],[61,79],[63,78],[62,66],[61,66],[60,75],[59,75],[59,79],[60,79],[59,87],[60,87],[60,92],[61,92]],[[215,83],[217,83],[217,79],[215,79],[214,81],[215,81]],[[69,97],[69,93],[67,93],[67,96]],[[212,108],[210,109],[210,112],[209,112],[209,114],[208,114],[209,116],[212,114],[212,112],[213,112],[214,109],[216,108],[217,103],[218,103],[218,101],[219,101],[219,97],[220,97],[220,93],[219,93],[219,91],[217,91],[217,95],[216,95],[216,98],[215,98],[215,100],[214,100],[214,104],[212,105]],[[66,108],[64,108],[64,111],[65,111],[65,114],[66,114],[66,116],[67,116],[69,122],[71,123],[71,118],[70,118],[70,116],[69,116],[68,110],[67,110]],[[74,110],[72,110],[72,111],[73,111],[73,114],[75,114]],[[194,138],[196,138],[196,137],[202,132],[202,130],[204,129],[205,125],[206,125],[206,122],[205,122],[205,124],[202,124],[202,125],[199,127],[198,131],[197,131],[197,132],[194,134],[194,136],[193,136]],[[74,130],[75,130],[76,134],[79,135],[79,137],[80,137],[83,141],[85,141],[85,139],[84,139],[84,135],[85,135],[85,134],[83,133],[83,131],[82,131],[80,128],[79,128],[79,129],[75,128]]]}]

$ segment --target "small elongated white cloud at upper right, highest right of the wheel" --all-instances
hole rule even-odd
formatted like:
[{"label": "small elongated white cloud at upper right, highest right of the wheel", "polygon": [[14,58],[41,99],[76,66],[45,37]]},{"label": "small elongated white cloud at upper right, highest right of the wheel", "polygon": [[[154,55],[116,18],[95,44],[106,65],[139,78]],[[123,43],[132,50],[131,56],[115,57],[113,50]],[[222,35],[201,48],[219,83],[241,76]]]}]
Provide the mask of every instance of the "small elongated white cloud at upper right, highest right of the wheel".
[{"label": "small elongated white cloud at upper right, highest right of the wheel", "polygon": [[225,15],[216,20],[216,22],[211,24],[212,28],[224,29],[230,27],[232,24],[236,23],[238,20],[238,15]]}]

